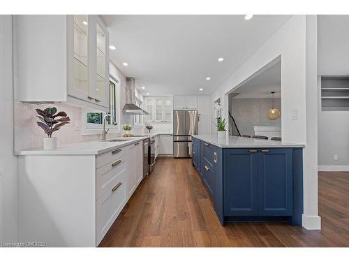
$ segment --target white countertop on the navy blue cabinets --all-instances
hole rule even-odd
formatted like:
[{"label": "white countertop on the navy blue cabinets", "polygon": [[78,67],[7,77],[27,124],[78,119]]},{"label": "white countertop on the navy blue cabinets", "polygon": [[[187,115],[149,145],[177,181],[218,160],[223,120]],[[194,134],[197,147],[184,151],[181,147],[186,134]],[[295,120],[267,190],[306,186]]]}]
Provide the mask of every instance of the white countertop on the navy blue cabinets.
[{"label": "white countertop on the navy blue cabinets", "polygon": [[226,148],[250,148],[250,147],[305,147],[301,144],[283,144],[280,141],[264,140],[258,138],[243,138],[241,136],[229,136],[218,138],[217,135],[193,135],[206,143]]}]

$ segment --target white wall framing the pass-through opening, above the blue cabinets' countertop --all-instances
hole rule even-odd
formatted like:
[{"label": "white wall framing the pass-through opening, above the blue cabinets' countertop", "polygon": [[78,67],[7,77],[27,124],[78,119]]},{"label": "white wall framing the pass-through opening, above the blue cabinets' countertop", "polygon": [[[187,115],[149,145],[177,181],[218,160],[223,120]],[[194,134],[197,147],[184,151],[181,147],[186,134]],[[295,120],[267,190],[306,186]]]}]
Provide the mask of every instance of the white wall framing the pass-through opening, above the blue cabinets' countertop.
[{"label": "white wall framing the pass-through opening, above the blue cabinets' countertop", "polygon": [[[283,143],[306,143],[305,108],[305,16],[293,15],[279,31],[247,59],[216,92],[211,101],[221,98],[228,104],[226,95],[237,85],[253,75],[270,61],[281,55],[281,117]],[[297,109],[298,119],[292,120],[291,110]],[[224,106],[223,117],[228,117]]]}]

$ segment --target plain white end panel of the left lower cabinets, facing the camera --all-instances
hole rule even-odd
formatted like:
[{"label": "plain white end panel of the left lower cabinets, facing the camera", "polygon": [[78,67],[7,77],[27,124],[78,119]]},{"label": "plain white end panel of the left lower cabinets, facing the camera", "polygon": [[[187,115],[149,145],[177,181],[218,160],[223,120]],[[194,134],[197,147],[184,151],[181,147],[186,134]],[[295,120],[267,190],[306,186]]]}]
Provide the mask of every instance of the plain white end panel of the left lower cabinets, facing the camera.
[{"label": "plain white end panel of the left lower cabinets, facing the camera", "polygon": [[19,170],[20,241],[94,247],[95,156],[23,156]]}]

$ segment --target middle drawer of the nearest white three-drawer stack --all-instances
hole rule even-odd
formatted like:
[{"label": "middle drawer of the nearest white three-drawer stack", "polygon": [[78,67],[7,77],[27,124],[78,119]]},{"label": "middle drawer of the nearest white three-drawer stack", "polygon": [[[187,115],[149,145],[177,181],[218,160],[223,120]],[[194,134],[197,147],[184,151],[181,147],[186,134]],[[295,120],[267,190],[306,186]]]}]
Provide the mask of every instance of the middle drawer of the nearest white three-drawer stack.
[{"label": "middle drawer of the nearest white three-drawer stack", "polygon": [[96,199],[114,187],[114,177],[126,172],[126,157],[124,155],[96,170]]}]

